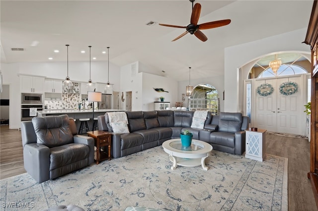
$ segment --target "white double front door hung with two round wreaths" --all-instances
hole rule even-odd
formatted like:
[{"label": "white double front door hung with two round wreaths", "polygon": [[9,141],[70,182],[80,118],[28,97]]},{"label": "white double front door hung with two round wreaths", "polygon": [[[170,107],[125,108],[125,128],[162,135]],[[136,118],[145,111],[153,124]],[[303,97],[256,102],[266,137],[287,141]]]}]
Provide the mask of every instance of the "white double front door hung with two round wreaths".
[{"label": "white double front door hung with two round wreaths", "polygon": [[[268,96],[255,93],[256,115],[254,127],[266,129],[272,132],[290,133],[302,135],[304,128],[304,77],[302,75],[256,79],[254,87],[267,83],[273,87],[273,92]],[[280,92],[280,86],[285,82],[295,82],[298,91],[292,95],[284,95]],[[286,90],[285,90],[286,92]]]}]

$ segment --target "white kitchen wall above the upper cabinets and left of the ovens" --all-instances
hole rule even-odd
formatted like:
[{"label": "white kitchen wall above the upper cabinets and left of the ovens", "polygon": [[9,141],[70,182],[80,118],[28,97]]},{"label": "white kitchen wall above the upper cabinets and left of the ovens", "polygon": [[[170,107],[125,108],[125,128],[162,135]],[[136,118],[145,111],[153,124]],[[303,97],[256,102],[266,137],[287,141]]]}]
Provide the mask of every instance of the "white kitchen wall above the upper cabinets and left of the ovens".
[{"label": "white kitchen wall above the upper cabinets and left of the ovens", "polygon": [[[93,61],[90,65],[90,75],[93,83],[107,82],[108,62]],[[10,117],[9,128],[20,128],[20,83],[18,74],[45,76],[48,78],[65,79],[67,75],[66,62],[23,62],[12,64],[1,64],[3,84],[10,84]],[[87,82],[89,79],[88,62],[69,62],[69,77],[72,81]],[[120,90],[120,68],[109,63],[109,81],[114,84],[113,90]]]}]

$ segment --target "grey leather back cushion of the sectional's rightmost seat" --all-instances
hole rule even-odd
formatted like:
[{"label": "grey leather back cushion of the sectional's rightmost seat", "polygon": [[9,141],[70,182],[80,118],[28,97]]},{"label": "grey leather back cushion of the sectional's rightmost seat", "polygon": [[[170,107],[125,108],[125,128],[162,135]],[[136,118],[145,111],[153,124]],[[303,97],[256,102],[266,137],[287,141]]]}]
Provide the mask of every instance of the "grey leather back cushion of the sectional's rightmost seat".
[{"label": "grey leather back cushion of the sectional's rightmost seat", "polygon": [[219,117],[220,132],[235,133],[240,130],[242,125],[241,113],[221,112]]}]

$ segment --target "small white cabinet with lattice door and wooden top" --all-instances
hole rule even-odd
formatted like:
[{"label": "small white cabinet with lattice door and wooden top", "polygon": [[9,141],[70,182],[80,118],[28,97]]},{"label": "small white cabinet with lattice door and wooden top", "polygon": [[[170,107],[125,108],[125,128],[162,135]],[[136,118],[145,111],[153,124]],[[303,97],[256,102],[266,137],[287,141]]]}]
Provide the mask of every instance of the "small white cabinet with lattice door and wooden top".
[{"label": "small white cabinet with lattice door and wooden top", "polygon": [[263,129],[246,130],[245,158],[263,161],[266,155],[265,132]]}]

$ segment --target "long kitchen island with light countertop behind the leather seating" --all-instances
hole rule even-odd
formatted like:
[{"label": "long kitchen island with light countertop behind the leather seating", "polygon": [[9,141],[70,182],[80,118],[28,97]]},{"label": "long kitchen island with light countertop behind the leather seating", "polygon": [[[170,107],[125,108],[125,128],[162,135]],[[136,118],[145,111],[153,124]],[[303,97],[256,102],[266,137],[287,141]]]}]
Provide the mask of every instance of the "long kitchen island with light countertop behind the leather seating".
[{"label": "long kitchen island with light countertop behind the leather seating", "polygon": [[[94,109],[94,117],[104,115],[106,112],[116,112],[116,111],[125,111],[121,109]],[[89,129],[92,129],[93,125],[93,109],[85,109],[85,110],[78,110],[78,109],[60,109],[60,110],[39,110],[37,111],[37,116],[53,116],[53,115],[62,115],[67,114],[70,118],[74,118],[77,121],[76,126],[79,130],[79,119],[81,118],[89,118]]]}]

